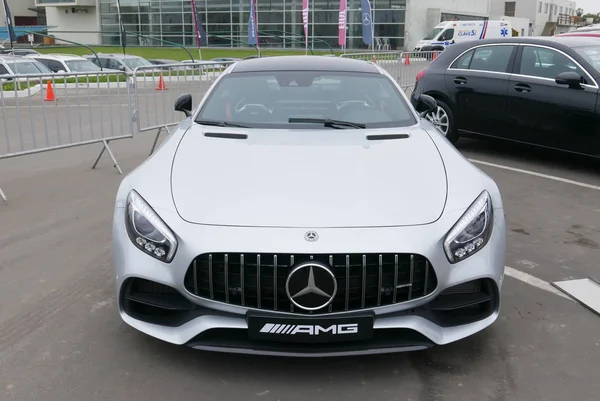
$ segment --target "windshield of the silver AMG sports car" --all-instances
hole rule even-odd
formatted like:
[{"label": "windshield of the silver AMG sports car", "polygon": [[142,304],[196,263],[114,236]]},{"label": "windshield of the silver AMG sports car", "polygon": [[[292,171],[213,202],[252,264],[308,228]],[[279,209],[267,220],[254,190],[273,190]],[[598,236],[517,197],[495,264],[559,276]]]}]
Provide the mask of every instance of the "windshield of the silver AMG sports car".
[{"label": "windshield of the silver AMG sports car", "polygon": [[345,121],[366,128],[406,127],[417,122],[411,106],[387,76],[336,71],[228,74],[211,92],[196,121],[250,128],[324,126],[306,119]]}]

